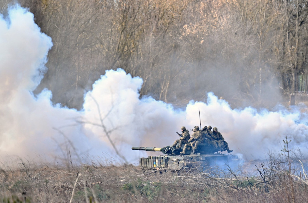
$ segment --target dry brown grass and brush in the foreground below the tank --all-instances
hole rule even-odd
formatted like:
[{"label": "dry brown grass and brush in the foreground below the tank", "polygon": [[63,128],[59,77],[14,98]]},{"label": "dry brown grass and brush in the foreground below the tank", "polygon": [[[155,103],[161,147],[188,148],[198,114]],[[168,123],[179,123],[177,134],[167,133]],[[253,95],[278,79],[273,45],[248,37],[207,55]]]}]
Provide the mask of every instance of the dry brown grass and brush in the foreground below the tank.
[{"label": "dry brown grass and brush in the foreground below the tank", "polygon": [[1,170],[0,196],[3,202],[307,202],[306,160],[300,153],[291,157],[288,143],[263,162],[202,172],[21,162]]}]

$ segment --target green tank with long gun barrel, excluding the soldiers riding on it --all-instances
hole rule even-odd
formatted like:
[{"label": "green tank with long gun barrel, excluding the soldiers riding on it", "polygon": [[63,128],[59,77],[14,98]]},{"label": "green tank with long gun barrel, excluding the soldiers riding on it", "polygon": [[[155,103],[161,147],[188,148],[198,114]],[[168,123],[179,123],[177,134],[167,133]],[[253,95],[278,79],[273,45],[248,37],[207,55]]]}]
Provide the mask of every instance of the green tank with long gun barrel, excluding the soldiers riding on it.
[{"label": "green tank with long gun barrel, excluding the soldiers riding on it", "polygon": [[236,155],[218,153],[217,149],[209,144],[201,144],[192,152],[191,147],[188,148],[185,154],[180,153],[183,150],[178,147],[166,146],[157,147],[132,147],[132,150],[143,150],[151,152],[161,152],[164,155],[149,156],[140,158],[140,167],[143,170],[176,170],[183,169],[198,169],[205,170],[209,166],[224,166],[234,163],[239,160]]}]

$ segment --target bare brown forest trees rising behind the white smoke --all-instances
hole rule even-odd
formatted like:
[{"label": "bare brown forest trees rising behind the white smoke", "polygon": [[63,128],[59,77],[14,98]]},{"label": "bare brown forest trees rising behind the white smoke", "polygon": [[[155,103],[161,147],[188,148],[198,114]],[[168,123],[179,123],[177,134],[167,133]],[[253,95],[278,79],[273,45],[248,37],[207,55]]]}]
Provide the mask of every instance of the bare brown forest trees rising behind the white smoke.
[{"label": "bare brown forest trees rising behind the white smoke", "polygon": [[[10,0],[2,0],[6,15]],[[105,70],[143,78],[140,95],[175,106],[212,91],[271,108],[308,91],[306,0],[20,0],[52,38],[37,88],[81,109]]]}]

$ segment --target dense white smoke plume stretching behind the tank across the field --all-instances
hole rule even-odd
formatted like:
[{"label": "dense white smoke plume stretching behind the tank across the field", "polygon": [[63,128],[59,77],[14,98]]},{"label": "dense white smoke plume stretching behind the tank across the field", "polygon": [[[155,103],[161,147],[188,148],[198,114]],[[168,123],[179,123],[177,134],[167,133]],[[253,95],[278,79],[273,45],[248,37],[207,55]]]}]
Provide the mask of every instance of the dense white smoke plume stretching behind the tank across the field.
[{"label": "dense white smoke plume stretching behind the tank across the field", "polygon": [[172,145],[181,126],[200,125],[199,111],[202,127],[216,126],[233,153],[245,159],[263,158],[268,150],[280,151],[286,136],[292,140],[290,147],[308,154],[306,115],[299,110],[232,109],[213,93],[206,103],[190,101],[186,108],[176,109],[151,97],[140,99],[142,78],[122,69],[106,71],[93,84],[85,94],[83,110],[53,105],[51,91],[32,93],[43,77],[51,46],[51,38],[40,32],[27,10],[15,6],[6,18],[0,17],[3,160],[58,161],[71,153],[81,162],[124,161],[115,147],[129,163],[138,163],[145,153],[132,151],[132,146]]}]

